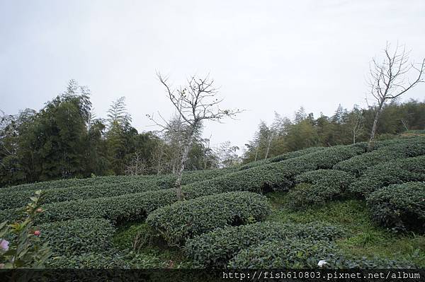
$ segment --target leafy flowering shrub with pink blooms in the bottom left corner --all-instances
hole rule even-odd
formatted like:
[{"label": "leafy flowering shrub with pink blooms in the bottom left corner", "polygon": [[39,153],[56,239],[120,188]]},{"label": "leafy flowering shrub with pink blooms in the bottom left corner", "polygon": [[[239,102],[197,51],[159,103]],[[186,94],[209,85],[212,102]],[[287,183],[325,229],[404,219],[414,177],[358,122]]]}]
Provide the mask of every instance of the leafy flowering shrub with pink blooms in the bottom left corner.
[{"label": "leafy flowering shrub with pink blooms in the bottom left corner", "polygon": [[39,206],[41,195],[41,191],[36,191],[35,196],[30,197],[22,221],[9,225],[6,221],[0,223],[1,268],[43,268],[51,256],[47,242],[42,244],[38,237],[40,230],[33,227],[34,219],[43,212]]}]

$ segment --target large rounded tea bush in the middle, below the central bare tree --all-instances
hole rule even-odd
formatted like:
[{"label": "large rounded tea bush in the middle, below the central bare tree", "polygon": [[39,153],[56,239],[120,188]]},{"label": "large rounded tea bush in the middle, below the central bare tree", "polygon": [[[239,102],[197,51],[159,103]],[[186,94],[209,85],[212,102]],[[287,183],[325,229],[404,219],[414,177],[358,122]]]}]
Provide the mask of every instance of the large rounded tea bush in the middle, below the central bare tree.
[{"label": "large rounded tea bush in the middle, below the central bare tree", "polygon": [[159,208],[149,214],[147,223],[159,230],[169,245],[181,245],[188,238],[217,227],[259,221],[270,211],[266,196],[227,192]]}]

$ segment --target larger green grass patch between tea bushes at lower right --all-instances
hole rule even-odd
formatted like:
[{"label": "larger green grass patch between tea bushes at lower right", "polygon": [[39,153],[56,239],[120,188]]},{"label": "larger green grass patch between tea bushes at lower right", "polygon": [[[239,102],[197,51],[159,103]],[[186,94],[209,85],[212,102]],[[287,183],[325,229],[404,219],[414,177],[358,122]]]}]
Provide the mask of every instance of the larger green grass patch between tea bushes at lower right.
[{"label": "larger green grass patch between tea bushes at lower right", "polygon": [[425,236],[414,233],[394,233],[370,219],[370,212],[361,200],[331,201],[322,206],[310,206],[300,211],[290,210],[287,194],[268,194],[273,206],[269,221],[310,223],[319,221],[340,225],[348,231],[346,238],[336,243],[346,254],[356,257],[407,259],[425,267]]}]

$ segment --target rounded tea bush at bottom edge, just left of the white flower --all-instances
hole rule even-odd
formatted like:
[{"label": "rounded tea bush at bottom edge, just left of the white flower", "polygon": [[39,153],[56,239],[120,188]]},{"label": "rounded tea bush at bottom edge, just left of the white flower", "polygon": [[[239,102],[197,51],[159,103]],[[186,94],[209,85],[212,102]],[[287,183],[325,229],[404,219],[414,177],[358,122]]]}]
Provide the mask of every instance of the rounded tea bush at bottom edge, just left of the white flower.
[{"label": "rounded tea bush at bottom edge, just left of the white flower", "polygon": [[279,240],[242,249],[229,261],[237,269],[317,268],[319,260],[331,261],[337,249],[329,241]]}]

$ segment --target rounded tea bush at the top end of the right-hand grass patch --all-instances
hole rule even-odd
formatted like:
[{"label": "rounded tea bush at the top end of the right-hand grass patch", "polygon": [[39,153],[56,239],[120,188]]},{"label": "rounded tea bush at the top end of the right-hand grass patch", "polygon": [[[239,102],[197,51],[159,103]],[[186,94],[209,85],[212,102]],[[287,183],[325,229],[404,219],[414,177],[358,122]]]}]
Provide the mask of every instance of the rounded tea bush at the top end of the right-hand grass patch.
[{"label": "rounded tea bush at the top end of the right-hand grass patch", "polygon": [[288,193],[291,200],[288,206],[302,208],[343,196],[355,177],[341,170],[313,170],[298,175],[295,180],[299,184]]}]

